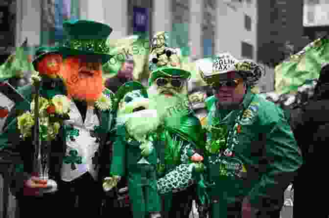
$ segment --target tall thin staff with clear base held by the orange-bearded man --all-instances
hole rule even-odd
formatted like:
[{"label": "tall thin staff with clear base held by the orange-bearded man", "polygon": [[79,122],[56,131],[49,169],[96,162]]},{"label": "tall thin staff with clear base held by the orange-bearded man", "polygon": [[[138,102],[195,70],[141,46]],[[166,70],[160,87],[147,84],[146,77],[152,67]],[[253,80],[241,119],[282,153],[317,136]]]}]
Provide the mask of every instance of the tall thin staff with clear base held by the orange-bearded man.
[{"label": "tall thin staff with clear base held by the orange-bearded man", "polygon": [[49,179],[49,157],[50,157],[50,142],[42,141],[40,138],[39,127],[39,92],[40,83],[35,84],[36,96],[35,96],[35,126],[34,126],[34,156],[33,156],[33,174],[40,179],[47,180],[47,188],[40,189],[40,193],[51,193],[57,191],[57,183]]}]

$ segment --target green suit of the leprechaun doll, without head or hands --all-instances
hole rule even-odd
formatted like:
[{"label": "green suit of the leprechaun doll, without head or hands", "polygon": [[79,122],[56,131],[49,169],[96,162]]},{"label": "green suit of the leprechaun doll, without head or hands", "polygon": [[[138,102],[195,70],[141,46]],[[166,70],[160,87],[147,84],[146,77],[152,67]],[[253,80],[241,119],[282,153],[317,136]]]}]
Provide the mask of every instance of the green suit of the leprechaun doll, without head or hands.
[{"label": "green suit of the leprechaun doll, without head or hands", "polygon": [[111,174],[126,176],[134,218],[145,218],[148,212],[160,212],[160,196],[157,191],[157,153],[144,157],[150,164],[138,164],[141,159],[141,143],[128,136],[124,125],[118,126],[113,144]]}]

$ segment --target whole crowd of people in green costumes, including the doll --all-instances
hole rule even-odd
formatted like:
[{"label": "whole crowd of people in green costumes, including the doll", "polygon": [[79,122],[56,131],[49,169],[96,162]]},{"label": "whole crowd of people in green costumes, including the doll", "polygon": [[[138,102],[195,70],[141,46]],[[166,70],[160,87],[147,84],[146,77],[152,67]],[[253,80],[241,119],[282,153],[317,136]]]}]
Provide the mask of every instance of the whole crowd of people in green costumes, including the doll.
[{"label": "whole crowd of people in green costumes, including the doll", "polygon": [[[17,88],[29,104],[15,102],[0,134],[21,217],[188,218],[195,200],[200,218],[280,218],[290,183],[294,217],[315,208],[305,190],[314,196],[309,173],[326,159],[328,65],[311,100],[287,109],[253,92],[257,63],[230,53],[199,71],[207,88],[193,86],[164,32],[152,41],[147,86],[134,80],[133,57],[104,82],[112,28],[63,28],[67,41],[37,50],[33,82]],[[48,149],[46,179],[36,141]]]}]

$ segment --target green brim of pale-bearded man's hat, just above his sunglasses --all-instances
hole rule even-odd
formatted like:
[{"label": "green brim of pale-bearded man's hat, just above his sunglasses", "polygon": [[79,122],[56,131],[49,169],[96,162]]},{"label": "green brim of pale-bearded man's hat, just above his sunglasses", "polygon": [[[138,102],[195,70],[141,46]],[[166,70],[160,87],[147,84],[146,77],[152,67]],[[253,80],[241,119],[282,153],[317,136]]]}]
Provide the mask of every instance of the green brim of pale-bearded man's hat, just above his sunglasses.
[{"label": "green brim of pale-bearded man's hat, just above his sunglasses", "polygon": [[151,86],[152,83],[160,77],[189,79],[191,77],[191,73],[177,67],[159,67],[151,73],[149,86]]}]

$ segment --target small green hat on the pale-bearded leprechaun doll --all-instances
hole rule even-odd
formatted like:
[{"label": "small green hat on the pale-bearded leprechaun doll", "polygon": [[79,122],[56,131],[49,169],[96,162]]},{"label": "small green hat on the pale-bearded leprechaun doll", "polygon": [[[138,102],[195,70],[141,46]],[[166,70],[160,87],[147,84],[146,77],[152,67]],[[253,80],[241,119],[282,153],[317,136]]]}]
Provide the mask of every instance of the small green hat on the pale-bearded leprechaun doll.
[{"label": "small green hat on the pale-bearded leprechaun doll", "polygon": [[122,100],[122,98],[125,97],[125,95],[127,93],[132,92],[134,90],[141,91],[140,96],[134,96],[134,97],[148,98],[147,90],[141,83],[139,83],[137,81],[127,82],[127,83],[123,84],[121,87],[119,87],[118,91],[115,94],[116,101],[115,101],[115,104],[113,107],[113,111],[117,111],[118,105],[119,105],[120,101]]}]

